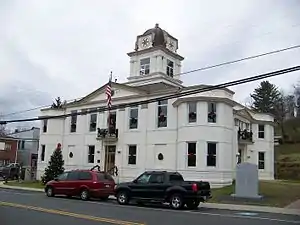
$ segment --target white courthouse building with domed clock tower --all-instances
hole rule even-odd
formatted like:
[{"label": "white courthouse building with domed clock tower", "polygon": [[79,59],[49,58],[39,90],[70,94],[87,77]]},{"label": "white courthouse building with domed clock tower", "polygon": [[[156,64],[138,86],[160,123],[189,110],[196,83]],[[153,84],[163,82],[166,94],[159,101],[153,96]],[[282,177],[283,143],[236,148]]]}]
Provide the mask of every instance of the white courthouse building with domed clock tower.
[{"label": "white courthouse building with domed clock tower", "polygon": [[[184,86],[178,40],[158,25],[137,36],[130,57],[128,82],[112,82],[112,105],[184,93],[207,85]],[[41,116],[86,112],[105,107],[106,85],[61,109]],[[234,92],[218,89],[137,107],[44,119],[41,125],[38,177],[61,143],[65,168],[118,168],[117,182],[145,170],[178,171],[187,180],[207,180],[215,187],[231,184],[239,162],[255,163],[260,179],[274,179],[274,118],[233,100]]]}]

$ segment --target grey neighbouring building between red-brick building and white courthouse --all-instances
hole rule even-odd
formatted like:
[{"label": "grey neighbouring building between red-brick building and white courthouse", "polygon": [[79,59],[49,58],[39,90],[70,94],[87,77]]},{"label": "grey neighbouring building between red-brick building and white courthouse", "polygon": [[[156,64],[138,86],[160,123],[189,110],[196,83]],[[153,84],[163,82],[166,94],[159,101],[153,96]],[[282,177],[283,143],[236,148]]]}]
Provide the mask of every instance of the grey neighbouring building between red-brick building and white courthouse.
[{"label": "grey neighbouring building between red-brick building and white courthouse", "polygon": [[32,127],[30,129],[15,130],[9,134],[18,140],[17,158],[18,162],[31,169],[32,178],[36,177],[37,159],[40,139],[40,128]]}]

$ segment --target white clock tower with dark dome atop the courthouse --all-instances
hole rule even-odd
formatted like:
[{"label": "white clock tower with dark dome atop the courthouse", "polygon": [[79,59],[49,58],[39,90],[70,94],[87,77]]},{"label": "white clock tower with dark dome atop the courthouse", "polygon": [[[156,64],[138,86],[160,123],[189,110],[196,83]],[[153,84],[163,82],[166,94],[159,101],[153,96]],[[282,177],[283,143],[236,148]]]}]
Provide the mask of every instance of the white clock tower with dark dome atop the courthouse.
[{"label": "white clock tower with dark dome atop the courthouse", "polygon": [[150,83],[166,83],[181,86],[181,62],[183,57],[177,53],[178,40],[158,24],[138,35],[135,49],[130,57],[130,76],[128,85],[140,86]]}]

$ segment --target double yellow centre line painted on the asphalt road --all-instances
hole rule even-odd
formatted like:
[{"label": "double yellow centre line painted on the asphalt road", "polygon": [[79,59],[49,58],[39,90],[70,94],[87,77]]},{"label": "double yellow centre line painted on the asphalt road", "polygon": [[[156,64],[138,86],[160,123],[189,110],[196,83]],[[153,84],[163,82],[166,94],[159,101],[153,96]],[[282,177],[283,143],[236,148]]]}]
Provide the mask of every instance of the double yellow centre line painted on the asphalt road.
[{"label": "double yellow centre line painted on the asphalt road", "polygon": [[57,215],[63,215],[63,216],[70,216],[74,218],[79,219],[86,219],[86,220],[93,220],[97,222],[104,222],[104,223],[110,223],[110,224],[120,224],[120,225],[145,225],[144,223],[135,223],[130,221],[123,221],[123,220],[116,220],[116,219],[109,219],[109,218],[102,218],[102,217],[95,217],[95,216],[89,216],[84,214],[77,214],[77,213],[71,213],[61,210],[55,210],[55,209],[45,209],[41,207],[35,207],[35,206],[29,206],[29,205],[21,205],[11,202],[2,202],[0,201],[0,206],[9,206],[9,207],[15,207],[15,208],[23,208],[23,209],[30,209],[34,211],[39,212],[45,212],[45,213],[51,213],[51,214],[57,214]]}]

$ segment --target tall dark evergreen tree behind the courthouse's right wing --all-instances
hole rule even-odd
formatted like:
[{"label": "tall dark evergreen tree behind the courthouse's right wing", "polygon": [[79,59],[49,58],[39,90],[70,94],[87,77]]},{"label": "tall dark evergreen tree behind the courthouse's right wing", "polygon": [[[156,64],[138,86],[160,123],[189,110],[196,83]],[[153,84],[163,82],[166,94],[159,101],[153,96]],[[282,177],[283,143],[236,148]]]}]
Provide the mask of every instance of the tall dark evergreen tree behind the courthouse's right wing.
[{"label": "tall dark evergreen tree behind the courthouse's right wing", "polygon": [[276,114],[276,106],[281,99],[281,93],[274,84],[262,81],[250,95],[253,99],[253,109],[261,113]]}]

